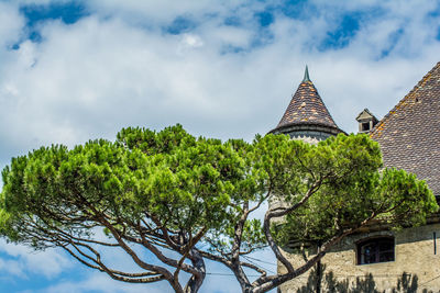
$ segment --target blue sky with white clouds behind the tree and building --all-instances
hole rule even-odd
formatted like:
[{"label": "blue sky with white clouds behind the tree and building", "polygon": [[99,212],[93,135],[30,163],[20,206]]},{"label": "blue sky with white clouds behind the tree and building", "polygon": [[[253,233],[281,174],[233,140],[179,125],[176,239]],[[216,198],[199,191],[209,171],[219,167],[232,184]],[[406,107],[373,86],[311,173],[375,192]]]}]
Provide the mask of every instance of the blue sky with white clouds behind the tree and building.
[{"label": "blue sky with white clouds behind the tree and building", "polygon": [[[124,126],[250,140],[276,126],[306,64],[355,132],[359,112],[381,119],[438,61],[440,1],[0,0],[0,167]],[[140,291],[4,240],[0,289]],[[237,290],[210,275],[202,292]]]}]

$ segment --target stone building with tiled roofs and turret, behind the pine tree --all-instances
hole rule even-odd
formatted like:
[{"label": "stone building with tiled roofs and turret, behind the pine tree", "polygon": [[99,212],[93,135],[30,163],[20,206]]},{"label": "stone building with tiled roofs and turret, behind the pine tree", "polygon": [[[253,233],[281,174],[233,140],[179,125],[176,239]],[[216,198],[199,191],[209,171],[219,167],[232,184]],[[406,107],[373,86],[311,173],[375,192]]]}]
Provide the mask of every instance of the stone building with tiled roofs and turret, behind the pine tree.
[{"label": "stone building with tiled roofs and turret, behind the pine tree", "polygon": [[[440,63],[378,121],[367,109],[359,132],[380,143],[386,167],[416,173],[440,198]],[[332,120],[308,70],[279,124],[271,133],[318,143],[341,131]],[[308,273],[279,292],[440,292],[440,221],[400,232],[370,227],[344,238]],[[299,264],[302,258],[286,256]],[[278,270],[284,268],[278,266]],[[318,290],[317,290],[318,288]]]}]

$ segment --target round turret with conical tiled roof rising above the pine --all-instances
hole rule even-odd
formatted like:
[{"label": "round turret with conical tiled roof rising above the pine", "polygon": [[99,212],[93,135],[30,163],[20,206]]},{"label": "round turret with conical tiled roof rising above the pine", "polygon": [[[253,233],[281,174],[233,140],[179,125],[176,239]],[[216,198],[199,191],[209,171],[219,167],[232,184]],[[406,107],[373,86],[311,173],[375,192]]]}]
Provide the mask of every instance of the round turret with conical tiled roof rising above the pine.
[{"label": "round turret with conical tiled roof rising above the pine", "polygon": [[317,144],[331,135],[343,133],[331,117],[326,104],[309,77],[308,67],[304,79],[292,97],[278,125],[270,133],[288,134],[294,139]]}]

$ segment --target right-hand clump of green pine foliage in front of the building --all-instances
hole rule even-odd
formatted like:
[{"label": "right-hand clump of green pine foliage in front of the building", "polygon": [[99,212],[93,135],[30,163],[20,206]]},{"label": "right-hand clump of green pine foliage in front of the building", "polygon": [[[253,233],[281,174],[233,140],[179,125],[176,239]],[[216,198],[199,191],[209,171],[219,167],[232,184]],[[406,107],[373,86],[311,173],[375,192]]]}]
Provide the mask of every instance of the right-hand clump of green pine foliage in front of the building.
[{"label": "right-hand clump of green pine foliage in front of the building", "polygon": [[[307,203],[275,227],[283,244],[292,239],[323,243],[369,218],[391,228],[419,225],[438,209],[425,181],[404,170],[381,169],[378,144],[366,135],[330,137],[310,146],[299,159],[308,169],[294,167],[301,170],[297,182],[306,189],[321,183]],[[292,198],[287,203],[296,201]]]}]

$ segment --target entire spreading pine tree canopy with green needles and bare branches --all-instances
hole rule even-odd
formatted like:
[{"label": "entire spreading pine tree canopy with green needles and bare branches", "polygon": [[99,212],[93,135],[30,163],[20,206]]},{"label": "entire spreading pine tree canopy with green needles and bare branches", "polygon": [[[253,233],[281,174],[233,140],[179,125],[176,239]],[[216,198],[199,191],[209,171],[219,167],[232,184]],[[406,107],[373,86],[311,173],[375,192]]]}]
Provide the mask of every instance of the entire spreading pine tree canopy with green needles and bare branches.
[{"label": "entire spreading pine tree canopy with green needles and bare branches", "polygon": [[[374,221],[411,226],[437,211],[425,181],[381,168],[380,147],[366,135],[308,145],[284,135],[221,142],[180,125],[130,127],[116,142],[53,145],[13,158],[2,171],[0,235],[35,249],[62,247],[116,280],[166,281],[176,292],[197,292],[210,259],[228,267],[243,292],[265,292]],[[270,199],[264,219],[255,218]],[[294,268],[280,250],[293,238],[322,246]],[[265,247],[285,273],[270,275],[246,261]],[[110,267],[112,248],[139,271]],[[251,281],[249,269],[260,277]]]}]

